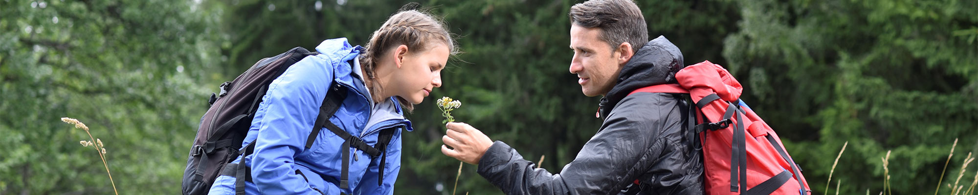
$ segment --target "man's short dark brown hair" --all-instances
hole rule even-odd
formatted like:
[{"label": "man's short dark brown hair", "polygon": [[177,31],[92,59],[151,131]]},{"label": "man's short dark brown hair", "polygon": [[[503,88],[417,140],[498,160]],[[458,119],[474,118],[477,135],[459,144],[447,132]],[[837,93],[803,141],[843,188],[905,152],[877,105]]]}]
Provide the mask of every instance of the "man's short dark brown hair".
[{"label": "man's short dark brown hair", "polygon": [[601,29],[600,39],[615,50],[621,43],[632,45],[632,54],[648,42],[642,10],[632,0],[592,0],[570,7],[571,24]]}]

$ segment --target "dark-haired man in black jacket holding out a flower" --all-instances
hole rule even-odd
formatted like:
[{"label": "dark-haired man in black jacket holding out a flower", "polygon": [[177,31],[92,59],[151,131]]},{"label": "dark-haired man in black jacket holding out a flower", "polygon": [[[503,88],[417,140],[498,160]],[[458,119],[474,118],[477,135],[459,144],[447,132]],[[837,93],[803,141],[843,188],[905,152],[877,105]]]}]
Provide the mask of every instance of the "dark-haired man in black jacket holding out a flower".
[{"label": "dark-haired man in black jacket holding out a flower", "polygon": [[603,96],[603,123],[577,158],[556,175],[533,169],[515,149],[464,123],[447,125],[442,153],[478,165],[478,174],[507,194],[703,194],[689,104],[670,94],[629,96],[676,83],[684,66],[679,49],[661,36],[645,43],[645,19],[631,0],[588,1],[569,16],[570,72],[585,96]]}]

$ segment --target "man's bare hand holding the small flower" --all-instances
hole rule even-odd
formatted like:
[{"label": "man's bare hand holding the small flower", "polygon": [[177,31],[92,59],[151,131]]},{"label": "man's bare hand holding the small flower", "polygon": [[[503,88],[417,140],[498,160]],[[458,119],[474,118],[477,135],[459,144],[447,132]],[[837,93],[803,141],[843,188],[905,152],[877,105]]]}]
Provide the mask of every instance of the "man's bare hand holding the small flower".
[{"label": "man's bare hand holding the small flower", "polygon": [[[448,123],[441,141],[441,153],[472,165],[478,165],[482,155],[492,146],[492,139],[465,123]],[[454,149],[449,149],[448,146]]]}]

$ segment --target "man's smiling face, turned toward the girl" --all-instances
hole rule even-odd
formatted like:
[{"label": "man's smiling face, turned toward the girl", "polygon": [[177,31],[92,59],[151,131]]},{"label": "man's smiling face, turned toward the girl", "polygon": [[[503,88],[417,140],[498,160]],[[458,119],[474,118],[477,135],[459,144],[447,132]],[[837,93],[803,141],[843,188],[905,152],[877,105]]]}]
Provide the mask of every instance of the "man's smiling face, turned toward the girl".
[{"label": "man's smiling face, turned toward the girl", "polygon": [[570,73],[577,74],[577,84],[581,85],[581,91],[588,97],[606,95],[611,91],[624,64],[619,60],[621,53],[600,40],[600,33],[599,28],[577,24],[570,26],[570,49],[574,50]]}]

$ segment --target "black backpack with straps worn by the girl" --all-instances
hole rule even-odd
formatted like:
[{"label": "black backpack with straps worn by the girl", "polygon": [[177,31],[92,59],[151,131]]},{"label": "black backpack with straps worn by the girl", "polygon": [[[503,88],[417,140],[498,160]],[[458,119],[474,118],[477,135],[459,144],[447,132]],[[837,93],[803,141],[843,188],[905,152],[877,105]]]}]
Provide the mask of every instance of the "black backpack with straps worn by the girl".
[{"label": "black backpack with straps worn by the girl", "polygon": [[[254,148],[254,141],[252,141],[244,146],[244,152],[239,150],[251,126],[258,103],[268,92],[268,85],[289,69],[289,66],[308,56],[318,54],[296,47],[281,55],[258,60],[235,80],[221,84],[219,94],[211,94],[208,100],[210,108],[200,118],[197,137],[194,138],[194,145],[187,159],[187,169],[184,170],[182,181],[183,194],[207,194],[217,176],[222,175],[236,176],[237,191],[239,194],[244,193],[244,181],[251,180],[250,169],[229,163],[239,155],[251,154]],[[377,146],[371,147],[358,137],[342,131],[333,123],[328,123],[329,118],[346,97],[347,91],[335,84],[331,85],[331,90],[333,92],[327,93],[327,98],[323,99],[315,126],[310,127],[313,131],[306,139],[306,148],[312,146],[320,130],[326,127],[333,134],[346,139],[344,146],[356,147],[374,157],[381,156],[393,135],[393,130],[380,131]],[[347,152],[343,153],[343,157],[348,155]],[[384,160],[385,158],[381,158],[381,166]],[[343,163],[343,184],[346,183],[348,163],[345,161]],[[380,169],[383,170],[383,167]],[[346,188],[346,185],[341,187]]]}]

